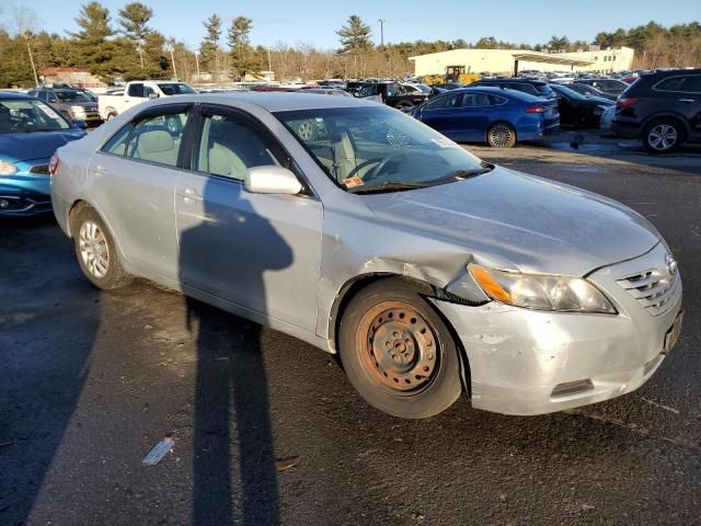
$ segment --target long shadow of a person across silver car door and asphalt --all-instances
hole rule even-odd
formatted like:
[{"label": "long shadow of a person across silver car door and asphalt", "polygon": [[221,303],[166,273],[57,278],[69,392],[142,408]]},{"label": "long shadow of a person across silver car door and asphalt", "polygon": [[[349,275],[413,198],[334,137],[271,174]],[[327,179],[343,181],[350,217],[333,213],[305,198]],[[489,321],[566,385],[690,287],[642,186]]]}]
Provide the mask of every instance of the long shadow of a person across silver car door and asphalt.
[{"label": "long shadow of a person across silver car door and asphalt", "polygon": [[[246,299],[265,313],[264,273],[290,265],[291,250],[262,217],[208,208],[212,191],[203,193],[200,222],[181,235],[181,282],[221,298],[232,291],[222,283],[230,287],[242,276]],[[217,245],[222,232],[235,235],[226,230],[229,221],[255,231],[258,243],[239,253]],[[279,499],[262,328],[197,299],[185,301],[187,325],[197,334],[193,523],[276,525]]]}]

